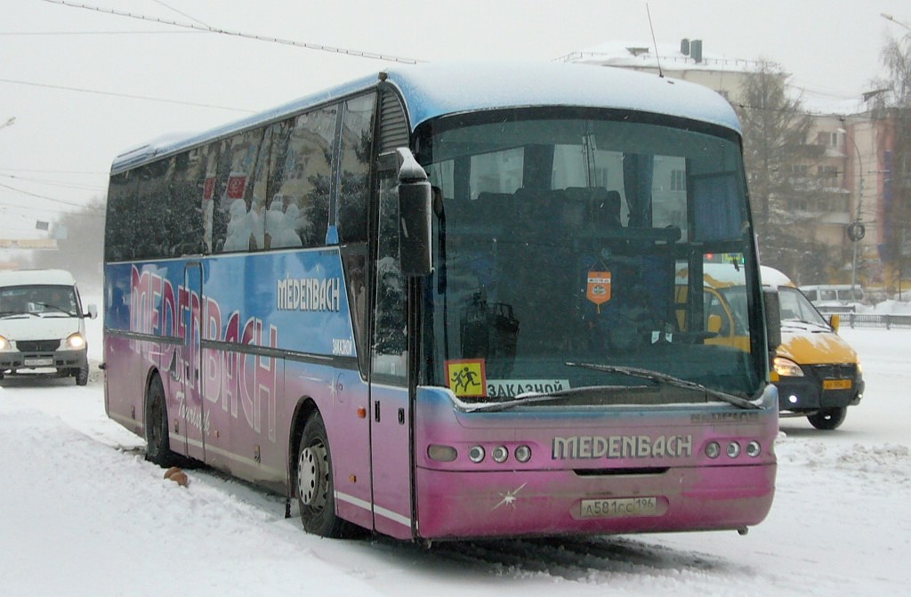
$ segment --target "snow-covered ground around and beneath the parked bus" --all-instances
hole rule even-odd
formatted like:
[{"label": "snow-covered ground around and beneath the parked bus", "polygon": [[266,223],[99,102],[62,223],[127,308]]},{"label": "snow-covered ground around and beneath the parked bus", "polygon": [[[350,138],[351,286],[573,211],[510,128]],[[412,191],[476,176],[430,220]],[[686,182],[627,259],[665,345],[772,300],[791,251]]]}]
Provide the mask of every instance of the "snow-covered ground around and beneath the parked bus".
[{"label": "snow-covered ground around and beneath the parked bus", "polygon": [[[97,321],[90,337],[100,354]],[[783,419],[772,512],[734,532],[445,543],[322,540],[205,470],[162,479],[109,421],[97,370],[0,388],[0,594],[911,594],[911,331],[843,329],[866,396],[844,425]]]}]

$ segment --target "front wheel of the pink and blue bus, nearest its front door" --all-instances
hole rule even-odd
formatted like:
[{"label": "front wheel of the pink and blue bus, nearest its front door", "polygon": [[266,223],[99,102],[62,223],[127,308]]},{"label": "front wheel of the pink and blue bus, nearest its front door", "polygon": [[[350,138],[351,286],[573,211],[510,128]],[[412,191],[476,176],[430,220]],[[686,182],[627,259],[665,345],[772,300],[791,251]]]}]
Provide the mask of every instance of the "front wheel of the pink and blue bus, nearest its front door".
[{"label": "front wheel of the pink and blue bus, nearest its front door", "polygon": [[303,426],[297,453],[297,500],[303,528],[321,537],[341,537],[343,520],[335,516],[333,461],[326,427],[319,413]]}]

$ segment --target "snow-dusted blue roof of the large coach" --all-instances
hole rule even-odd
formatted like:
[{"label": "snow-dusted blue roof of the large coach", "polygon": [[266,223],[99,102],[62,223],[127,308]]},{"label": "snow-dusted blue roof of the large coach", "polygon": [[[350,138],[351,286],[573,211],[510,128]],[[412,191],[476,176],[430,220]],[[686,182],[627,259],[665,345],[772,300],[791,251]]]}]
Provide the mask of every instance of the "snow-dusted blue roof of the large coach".
[{"label": "snow-dusted blue roof of the large coach", "polygon": [[223,139],[237,132],[288,118],[374,87],[384,80],[404,99],[409,126],[414,131],[431,118],[448,114],[541,106],[628,109],[679,118],[691,118],[741,132],[733,108],[708,87],[680,79],[614,67],[563,63],[446,63],[390,67],[378,76],[362,77],[343,85],[295,99],[248,118],[201,134],[149,142],[119,155],[111,172],[127,170],[151,160]]}]

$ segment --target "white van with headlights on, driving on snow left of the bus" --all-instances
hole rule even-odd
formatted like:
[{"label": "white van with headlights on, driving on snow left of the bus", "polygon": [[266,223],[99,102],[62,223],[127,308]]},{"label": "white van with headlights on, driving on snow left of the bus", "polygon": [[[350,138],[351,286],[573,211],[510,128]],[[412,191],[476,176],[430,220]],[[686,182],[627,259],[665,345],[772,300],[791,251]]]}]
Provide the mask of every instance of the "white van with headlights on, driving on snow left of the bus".
[{"label": "white van with headlights on, driving on snow left of the bus", "polygon": [[64,270],[0,272],[0,379],[51,373],[88,383],[85,318],[72,274]]}]

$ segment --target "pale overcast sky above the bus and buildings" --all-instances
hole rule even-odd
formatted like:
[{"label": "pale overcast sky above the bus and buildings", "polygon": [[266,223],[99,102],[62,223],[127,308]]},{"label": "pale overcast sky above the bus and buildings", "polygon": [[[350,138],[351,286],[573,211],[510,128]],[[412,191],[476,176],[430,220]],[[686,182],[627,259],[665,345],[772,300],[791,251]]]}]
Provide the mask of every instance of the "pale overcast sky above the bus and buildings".
[{"label": "pale overcast sky above the bus and buildings", "polygon": [[659,44],[689,37],[706,54],[770,59],[833,100],[868,89],[887,36],[911,33],[908,0],[0,0],[0,238],[41,237],[36,220],[102,198],[123,149],[389,64],[112,10],[425,61],[650,45],[650,12]]}]

